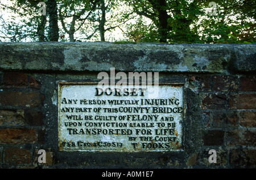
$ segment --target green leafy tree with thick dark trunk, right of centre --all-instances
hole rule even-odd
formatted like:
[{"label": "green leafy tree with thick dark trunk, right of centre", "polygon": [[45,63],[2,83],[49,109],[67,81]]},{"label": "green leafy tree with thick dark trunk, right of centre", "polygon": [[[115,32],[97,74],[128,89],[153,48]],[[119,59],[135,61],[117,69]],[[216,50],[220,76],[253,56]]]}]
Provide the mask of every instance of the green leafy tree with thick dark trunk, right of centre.
[{"label": "green leafy tree with thick dark trunk, right of centre", "polygon": [[135,13],[152,20],[158,29],[158,39],[163,43],[167,43],[167,39],[172,39],[174,42],[188,42],[187,35],[192,34],[189,26],[200,14],[196,3],[184,0],[127,0],[127,2]]}]

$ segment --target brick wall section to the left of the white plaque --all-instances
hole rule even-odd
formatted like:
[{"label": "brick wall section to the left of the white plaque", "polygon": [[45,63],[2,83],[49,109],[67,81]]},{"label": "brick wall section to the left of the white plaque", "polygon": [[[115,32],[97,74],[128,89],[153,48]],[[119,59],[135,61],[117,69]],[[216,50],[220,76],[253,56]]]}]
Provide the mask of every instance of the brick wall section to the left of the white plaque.
[{"label": "brick wall section to the left of the white plaque", "polygon": [[30,74],[1,73],[1,165],[36,166],[35,152],[44,143],[44,95],[40,93],[40,86]]}]

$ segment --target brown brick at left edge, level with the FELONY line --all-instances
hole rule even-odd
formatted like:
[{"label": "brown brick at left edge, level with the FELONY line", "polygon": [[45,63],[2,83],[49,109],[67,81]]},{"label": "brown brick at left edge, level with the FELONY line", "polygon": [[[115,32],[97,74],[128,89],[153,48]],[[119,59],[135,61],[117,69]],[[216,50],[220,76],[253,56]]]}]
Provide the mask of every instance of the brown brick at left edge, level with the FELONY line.
[{"label": "brown brick at left edge, level with the FELONY line", "polygon": [[24,125],[24,111],[0,110],[0,125]]}]

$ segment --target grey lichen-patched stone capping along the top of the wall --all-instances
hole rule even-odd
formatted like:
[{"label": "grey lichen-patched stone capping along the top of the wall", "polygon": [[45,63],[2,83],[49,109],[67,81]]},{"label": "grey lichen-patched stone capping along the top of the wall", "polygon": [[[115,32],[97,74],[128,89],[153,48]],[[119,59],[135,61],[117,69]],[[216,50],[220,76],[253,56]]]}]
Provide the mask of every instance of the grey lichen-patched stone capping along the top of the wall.
[{"label": "grey lichen-patched stone capping along the top of the wall", "polygon": [[255,44],[0,43],[0,52],[0,70],[256,71]]}]

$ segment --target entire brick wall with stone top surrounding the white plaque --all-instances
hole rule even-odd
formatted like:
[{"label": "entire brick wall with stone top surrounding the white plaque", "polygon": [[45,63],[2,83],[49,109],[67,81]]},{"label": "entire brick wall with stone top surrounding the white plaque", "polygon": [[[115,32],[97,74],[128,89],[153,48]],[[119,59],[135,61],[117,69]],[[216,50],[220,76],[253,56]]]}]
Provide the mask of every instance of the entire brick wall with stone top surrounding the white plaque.
[{"label": "entire brick wall with stone top surrounding the white plaque", "polygon": [[[90,69],[94,67],[89,65],[79,66],[79,68],[84,69],[72,69],[70,64],[65,64],[67,63],[66,60],[64,62],[56,61],[54,59],[57,57],[56,54],[64,51],[65,48],[60,48],[61,50],[54,52],[52,51],[53,47],[47,47],[50,52],[42,62],[43,57],[33,58],[36,57],[33,56],[33,53],[39,55],[35,47],[28,52],[23,52],[23,49],[29,47],[30,44],[18,44],[16,47],[14,45],[11,50],[13,55],[10,55],[10,51],[5,49],[10,44],[1,45],[0,50],[2,49],[3,55],[0,55],[2,56],[0,64],[0,168],[256,167],[256,75],[255,67],[251,65],[255,63],[255,58],[248,62],[249,65],[241,64],[246,56],[255,57],[254,45],[249,46],[249,49],[253,50],[250,51],[249,55],[241,56],[241,61],[240,56],[236,56],[237,59],[234,59],[233,52],[223,55],[223,47],[221,47],[222,56],[230,56],[226,60],[218,57],[225,62],[221,62],[221,69],[220,66],[216,69],[209,66],[211,68],[204,68],[201,71],[182,68],[157,70],[159,74],[162,73],[160,82],[182,81],[185,83],[185,88],[191,91],[193,97],[199,101],[195,106],[188,104],[188,107],[193,107],[186,115],[188,122],[189,119],[191,120],[191,126],[184,127],[186,128],[185,131],[188,132],[188,135],[184,137],[188,139],[188,142],[185,143],[184,152],[108,153],[108,156],[104,152],[64,153],[59,152],[57,146],[57,82],[97,82],[97,74],[100,70]],[[35,45],[38,46],[36,43]],[[100,48],[104,46],[102,43],[99,45]],[[59,47],[59,45],[57,46]],[[63,46],[66,47],[67,45],[64,44]],[[116,48],[117,45],[114,46]],[[136,45],[127,46],[130,48]],[[191,45],[189,47],[191,48]],[[40,45],[38,48],[40,49]],[[79,46],[79,48],[81,47]],[[86,46],[86,48],[88,47]],[[92,44],[92,48],[97,48],[97,44]],[[155,48],[163,51],[161,48],[166,48],[166,45],[152,48],[154,51]],[[171,48],[174,48],[175,52],[177,51],[175,46]],[[204,48],[203,46],[202,49]],[[233,49],[245,49],[247,51],[246,48],[238,46]],[[121,47],[120,49],[125,48]],[[138,47],[136,49],[138,50]],[[143,45],[141,49],[145,49]],[[167,50],[170,51],[170,49]],[[200,51],[197,52],[198,56]],[[216,56],[216,51],[213,51],[214,56]],[[104,52],[108,51],[105,49]],[[49,57],[51,53],[54,54],[54,57]],[[30,61],[26,59],[28,54],[30,54]],[[241,51],[235,51],[234,54],[241,55]],[[101,53],[99,53],[100,55]],[[210,54],[209,56],[213,55]],[[152,61],[154,61],[153,57],[156,58],[157,56],[152,55]],[[171,57],[175,58],[174,56]],[[40,59],[38,65],[36,65],[35,59]],[[113,64],[111,66],[117,67],[115,65],[116,58],[113,57],[112,59]],[[87,63],[87,60],[85,61]],[[92,59],[92,61],[97,61],[97,59]],[[193,68],[193,63],[187,62],[188,67],[189,64]],[[214,64],[216,64],[215,61]],[[74,65],[72,61],[71,66]],[[101,67],[97,67],[101,69]],[[154,69],[154,65],[151,68]],[[108,67],[105,67],[105,72],[108,70]],[[121,70],[119,69],[119,71]],[[141,71],[149,70],[147,66],[144,66],[144,69],[142,66]],[[134,69],[133,71],[137,70]],[[191,93],[188,93],[187,96],[189,97]],[[189,141],[196,141],[198,145],[193,145],[195,142]],[[46,164],[38,162],[39,149],[46,150]],[[208,152],[210,149],[216,150],[217,163],[209,163],[210,155]]]}]

